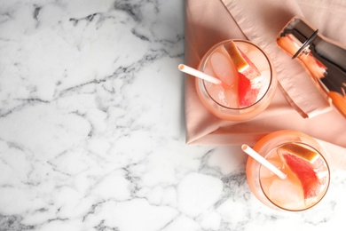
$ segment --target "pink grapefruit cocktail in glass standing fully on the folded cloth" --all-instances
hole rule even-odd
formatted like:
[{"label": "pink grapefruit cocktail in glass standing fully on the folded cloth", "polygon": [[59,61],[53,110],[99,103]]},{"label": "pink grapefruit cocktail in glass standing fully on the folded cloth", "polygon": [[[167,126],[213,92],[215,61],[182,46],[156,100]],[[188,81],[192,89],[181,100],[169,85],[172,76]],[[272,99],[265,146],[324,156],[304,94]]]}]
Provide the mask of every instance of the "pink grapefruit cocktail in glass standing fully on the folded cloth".
[{"label": "pink grapefruit cocktail in glass standing fully on the folded cloth", "polygon": [[211,84],[196,78],[203,105],[215,116],[232,121],[247,120],[261,113],[276,90],[276,73],[268,55],[245,40],[226,40],[213,46],[199,69],[221,80]]}]

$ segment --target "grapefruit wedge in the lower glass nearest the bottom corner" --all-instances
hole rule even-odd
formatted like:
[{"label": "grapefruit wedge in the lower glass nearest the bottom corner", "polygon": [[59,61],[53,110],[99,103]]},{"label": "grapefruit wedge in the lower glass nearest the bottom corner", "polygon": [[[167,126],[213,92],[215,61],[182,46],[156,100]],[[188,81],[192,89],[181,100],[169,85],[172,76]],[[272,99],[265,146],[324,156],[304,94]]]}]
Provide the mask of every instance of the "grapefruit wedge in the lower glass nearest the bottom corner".
[{"label": "grapefruit wedge in the lower glass nearest the bottom corner", "polygon": [[317,196],[321,187],[314,167],[318,153],[297,144],[285,144],[278,148],[278,154],[301,182],[304,198]]}]

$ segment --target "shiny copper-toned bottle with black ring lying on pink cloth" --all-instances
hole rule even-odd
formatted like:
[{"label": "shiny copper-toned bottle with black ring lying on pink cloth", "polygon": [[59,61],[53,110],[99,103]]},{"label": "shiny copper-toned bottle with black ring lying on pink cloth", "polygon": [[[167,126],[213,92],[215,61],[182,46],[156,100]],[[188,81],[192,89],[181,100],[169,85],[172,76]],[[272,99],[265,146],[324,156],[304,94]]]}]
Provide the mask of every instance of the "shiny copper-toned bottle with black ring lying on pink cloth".
[{"label": "shiny copper-toned bottle with black ring lying on pink cloth", "polygon": [[277,43],[302,61],[326,99],[346,117],[346,45],[321,35],[298,16],[279,32]]}]

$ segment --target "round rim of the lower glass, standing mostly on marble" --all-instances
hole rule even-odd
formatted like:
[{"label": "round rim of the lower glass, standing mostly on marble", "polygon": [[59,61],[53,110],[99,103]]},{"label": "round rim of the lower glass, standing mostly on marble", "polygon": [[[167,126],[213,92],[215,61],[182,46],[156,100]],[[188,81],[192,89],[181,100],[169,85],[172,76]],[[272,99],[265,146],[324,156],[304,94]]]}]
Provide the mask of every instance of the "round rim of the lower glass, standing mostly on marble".
[{"label": "round rim of the lower glass, standing mostly on marble", "polygon": [[319,155],[320,157],[322,157],[324,163],[326,163],[326,169],[327,169],[327,171],[328,171],[328,175],[327,175],[328,182],[327,182],[327,184],[326,184],[326,188],[324,189],[324,194],[321,195],[321,197],[318,199],[318,201],[316,201],[316,203],[313,203],[313,204],[311,204],[311,206],[307,206],[306,208],[303,208],[303,209],[292,210],[292,209],[287,209],[287,208],[285,208],[285,207],[279,206],[279,204],[274,203],[273,201],[271,201],[271,198],[270,198],[268,195],[266,195],[265,192],[264,192],[264,190],[263,190],[263,186],[262,186],[262,182],[261,182],[261,169],[262,169],[262,167],[263,167],[262,164],[260,164],[260,167],[259,167],[259,169],[258,169],[258,179],[259,179],[258,181],[259,181],[259,185],[260,185],[260,187],[261,187],[261,190],[262,190],[262,192],[263,192],[263,195],[264,195],[264,196],[268,199],[268,201],[269,201],[272,205],[274,205],[275,207],[277,207],[277,208],[279,208],[279,209],[281,209],[281,210],[283,210],[283,211],[306,211],[306,210],[311,209],[311,208],[314,207],[315,205],[317,205],[317,204],[325,197],[326,192],[327,192],[328,189],[329,189],[329,185],[330,185],[330,168],[329,168],[329,164],[326,162],[325,156],[322,155],[321,152],[318,151],[315,147],[311,147],[311,145],[306,144],[306,143],[304,143],[304,142],[299,142],[299,141],[291,141],[291,142],[280,143],[279,145],[277,145],[277,146],[275,146],[275,147],[272,147],[271,150],[268,151],[268,153],[265,155],[265,158],[266,158],[267,155],[269,155],[269,154],[271,153],[271,151],[273,151],[274,149],[276,149],[276,148],[278,148],[278,147],[280,147],[280,146],[283,146],[283,145],[285,145],[285,144],[288,144],[288,143],[290,143],[290,144],[294,143],[294,144],[300,144],[300,145],[303,145],[303,146],[307,146],[307,147],[311,148],[312,150],[314,150],[315,152],[317,152],[318,155]]}]

